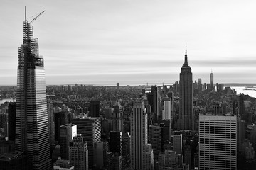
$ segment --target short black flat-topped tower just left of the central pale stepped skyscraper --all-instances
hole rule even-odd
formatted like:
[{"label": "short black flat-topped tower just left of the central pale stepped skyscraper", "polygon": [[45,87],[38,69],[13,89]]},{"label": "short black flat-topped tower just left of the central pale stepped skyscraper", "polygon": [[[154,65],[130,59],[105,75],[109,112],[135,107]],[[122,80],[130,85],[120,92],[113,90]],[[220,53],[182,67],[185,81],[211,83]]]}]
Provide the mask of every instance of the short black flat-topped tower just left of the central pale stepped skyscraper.
[{"label": "short black flat-topped tower just left of the central pale stepped skyscraper", "polygon": [[122,156],[122,131],[110,131],[110,151]]}]

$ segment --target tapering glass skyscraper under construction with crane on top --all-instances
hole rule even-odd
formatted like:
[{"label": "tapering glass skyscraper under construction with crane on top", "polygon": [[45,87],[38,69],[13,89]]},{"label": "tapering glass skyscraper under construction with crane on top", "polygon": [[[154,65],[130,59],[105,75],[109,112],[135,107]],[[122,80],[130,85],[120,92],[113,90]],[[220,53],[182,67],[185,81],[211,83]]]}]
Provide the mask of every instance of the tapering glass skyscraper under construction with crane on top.
[{"label": "tapering glass skyscraper under construction with crane on top", "polygon": [[23,44],[18,48],[16,103],[15,150],[28,154],[33,169],[52,169],[43,57],[39,56],[33,27],[26,20],[26,9]]}]

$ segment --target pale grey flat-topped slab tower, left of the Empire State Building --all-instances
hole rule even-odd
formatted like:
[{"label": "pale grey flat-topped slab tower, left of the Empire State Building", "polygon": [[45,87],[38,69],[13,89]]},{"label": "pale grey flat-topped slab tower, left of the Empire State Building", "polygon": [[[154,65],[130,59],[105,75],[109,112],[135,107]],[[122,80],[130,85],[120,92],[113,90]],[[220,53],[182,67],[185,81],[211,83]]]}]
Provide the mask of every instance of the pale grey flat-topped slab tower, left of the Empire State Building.
[{"label": "pale grey flat-topped slab tower, left of the Empire State Building", "polygon": [[162,119],[163,120],[170,120],[169,121],[169,140],[171,141],[171,121],[172,121],[172,98],[163,98],[164,101],[164,110],[162,112],[163,116]]}]

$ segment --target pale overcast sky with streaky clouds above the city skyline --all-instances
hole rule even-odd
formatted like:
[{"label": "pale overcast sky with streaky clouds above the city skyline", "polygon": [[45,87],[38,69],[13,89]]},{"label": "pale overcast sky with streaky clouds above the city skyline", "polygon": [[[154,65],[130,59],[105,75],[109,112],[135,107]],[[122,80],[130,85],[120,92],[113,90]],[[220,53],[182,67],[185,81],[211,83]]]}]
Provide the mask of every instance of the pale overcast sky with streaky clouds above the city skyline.
[{"label": "pale overcast sky with streaky clouds above the city skyline", "polygon": [[[1,0],[0,84],[16,84],[24,6],[46,84],[256,83],[256,1]],[[31,17],[31,18],[30,18]]]}]

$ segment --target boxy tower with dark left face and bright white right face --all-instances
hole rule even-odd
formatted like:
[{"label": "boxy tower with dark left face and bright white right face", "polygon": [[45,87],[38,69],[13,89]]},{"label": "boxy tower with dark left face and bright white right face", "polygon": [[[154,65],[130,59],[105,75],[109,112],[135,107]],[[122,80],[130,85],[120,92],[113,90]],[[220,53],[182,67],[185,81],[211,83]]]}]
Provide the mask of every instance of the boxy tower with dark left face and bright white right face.
[{"label": "boxy tower with dark left face and bright white right face", "polygon": [[77,135],[77,125],[66,124],[60,126],[60,157],[68,160],[68,147],[73,137]]}]

